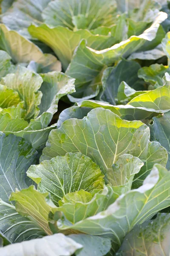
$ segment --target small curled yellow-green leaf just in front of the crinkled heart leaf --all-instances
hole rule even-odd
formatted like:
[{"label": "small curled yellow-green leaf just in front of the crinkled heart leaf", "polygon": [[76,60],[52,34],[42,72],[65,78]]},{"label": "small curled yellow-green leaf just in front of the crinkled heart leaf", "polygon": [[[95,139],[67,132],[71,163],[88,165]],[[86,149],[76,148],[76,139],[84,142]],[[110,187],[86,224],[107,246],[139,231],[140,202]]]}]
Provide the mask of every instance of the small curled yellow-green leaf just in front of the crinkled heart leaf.
[{"label": "small curled yellow-green leaf just in front of the crinkled heart leaf", "polygon": [[116,189],[114,191],[112,187],[106,186],[103,191],[95,191],[94,193],[89,193],[82,189],[78,192],[68,193],[59,201],[60,207],[52,209],[52,213],[54,215],[50,222],[53,225],[55,219],[58,220],[57,217],[60,212],[63,212],[65,218],[73,224],[94,216],[107,209],[109,205],[113,204],[113,202],[119,197],[116,192]]}]

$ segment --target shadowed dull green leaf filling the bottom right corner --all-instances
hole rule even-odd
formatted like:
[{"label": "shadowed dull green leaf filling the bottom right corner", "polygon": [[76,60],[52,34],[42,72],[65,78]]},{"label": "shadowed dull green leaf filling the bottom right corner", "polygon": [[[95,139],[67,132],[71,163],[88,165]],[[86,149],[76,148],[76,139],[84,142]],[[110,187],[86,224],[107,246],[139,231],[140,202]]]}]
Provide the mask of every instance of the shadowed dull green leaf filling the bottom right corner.
[{"label": "shadowed dull green leaf filling the bottom right corner", "polygon": [[[117,256],[168,255],[167,241],[170,230],[170,214],[159,213],[154,220],[146,221],[125,236]],[[78,241],[78,240],[77,240]]]}]

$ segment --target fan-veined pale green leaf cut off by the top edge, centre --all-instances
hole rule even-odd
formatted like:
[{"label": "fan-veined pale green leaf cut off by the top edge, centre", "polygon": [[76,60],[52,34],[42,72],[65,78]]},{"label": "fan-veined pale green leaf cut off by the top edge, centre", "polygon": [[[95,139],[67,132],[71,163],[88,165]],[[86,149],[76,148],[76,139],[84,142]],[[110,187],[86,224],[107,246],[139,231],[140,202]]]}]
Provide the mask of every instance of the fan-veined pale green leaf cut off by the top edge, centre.
[{"label": "fan-veined pale green leaf cut off by the top edge, centre", "polygon": [[45,23],[69,29],[95,29],[111,26],[116,16],[116,5],[109,0],[51,1],[42,12]]}]

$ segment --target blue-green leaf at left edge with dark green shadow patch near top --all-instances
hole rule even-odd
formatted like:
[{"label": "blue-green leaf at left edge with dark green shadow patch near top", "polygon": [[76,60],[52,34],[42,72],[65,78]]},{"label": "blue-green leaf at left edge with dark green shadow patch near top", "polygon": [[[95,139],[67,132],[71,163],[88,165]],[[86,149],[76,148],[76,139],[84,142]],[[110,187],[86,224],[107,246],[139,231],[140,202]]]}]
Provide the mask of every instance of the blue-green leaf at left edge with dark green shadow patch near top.
[{"label": "blue-green leaf at left edge with dark green shadow patch near top", "polygon": [[26,188],[25,176],[34,161],[37,151],[21,138],[0,134],[0,198],[8,202],[15,188]]}]

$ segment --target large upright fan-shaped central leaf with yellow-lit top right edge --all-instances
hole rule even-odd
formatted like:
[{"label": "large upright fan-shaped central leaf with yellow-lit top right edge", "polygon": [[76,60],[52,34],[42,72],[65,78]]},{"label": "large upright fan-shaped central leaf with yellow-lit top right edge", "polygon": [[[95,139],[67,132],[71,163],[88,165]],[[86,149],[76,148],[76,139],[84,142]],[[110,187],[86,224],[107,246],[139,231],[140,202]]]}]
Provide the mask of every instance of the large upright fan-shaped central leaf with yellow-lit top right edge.
[{"label": "large upright fan-shaped central leaf with yellow-lit top right edge", "polygon": [[149,138],[149,128],[142,122],[125,121],[110,110],[96,108],[82,120],[68,119],[51,131],[41,160],[79,151],[91,157],[107,175],[122,154],[132,154],[144,162],[136,177],[139,186],[154,163],[167,163],[165,148]]}]

